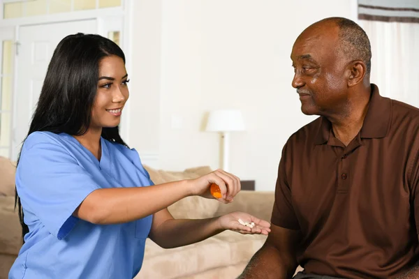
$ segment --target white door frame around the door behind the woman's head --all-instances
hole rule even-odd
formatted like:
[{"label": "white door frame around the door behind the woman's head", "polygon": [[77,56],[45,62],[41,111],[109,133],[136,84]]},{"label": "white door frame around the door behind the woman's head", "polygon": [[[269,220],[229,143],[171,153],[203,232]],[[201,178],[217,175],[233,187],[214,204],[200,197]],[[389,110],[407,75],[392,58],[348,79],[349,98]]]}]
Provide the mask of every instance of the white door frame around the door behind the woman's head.
[{"label": "white door frame around the door behind the woman's head", "polygon": [[[137,0],[138,1],[138,0]],[[0,5],[0,15],[3,15],[3,5]],[[111,20],[110,20],[111,19]],[[14,45],[14,56],[13,56],[13,98],[12,98],[12,130],[11,130],[11,160],[17,160],[18,154],[15,151],[16,146],[20,143],[16,142],[16,107],[17,107],[17,69],[20,65],[17,65],[17,53],[16,43],[19,42],[20,27],[26,27],[31,25],[41,24],[52,24],[59,22],[74,22],[79,20],[96,20],[97,22],[97,33],[101,36],[107,36],[108,31],[120,31],[120,46],[124,50],[126,59],[126,70],[132,73],[131,65],[131,29],[133,26],[133,0],[122,0],[122,5],[119,7],[112,8],[98,8],[95,10],[80,10],[69,13],[59,13],[53,15],[39,15],[32,17],[13,18],[7,20],[0,20],[0,29],[14,29],[15,33],[15,45]],[[115,29],[118,28],[118,29]],[[0,57],[1,62],[1,57]],[[124,107],[124,116],[121,119],[121,137],[125,142],[129,142],[129,115],[130,115],[130,103],[126,103]]]}]

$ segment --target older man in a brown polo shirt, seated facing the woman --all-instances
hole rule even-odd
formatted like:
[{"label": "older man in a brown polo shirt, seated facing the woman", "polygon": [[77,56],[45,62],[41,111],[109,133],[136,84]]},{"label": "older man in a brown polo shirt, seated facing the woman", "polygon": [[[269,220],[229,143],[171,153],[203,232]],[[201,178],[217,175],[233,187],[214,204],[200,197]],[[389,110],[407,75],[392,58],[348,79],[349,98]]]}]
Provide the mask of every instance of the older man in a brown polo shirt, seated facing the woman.
[{"label": "older man in a brown polo shirt, seated facing the woman", "polygon": [[[419,110],[369,82],[365,31],[312,24],[291,53],[304,114],[284,146],[272,232],[240,278],[419,278]],[[402,69],[400,69],[402,70]]]}]

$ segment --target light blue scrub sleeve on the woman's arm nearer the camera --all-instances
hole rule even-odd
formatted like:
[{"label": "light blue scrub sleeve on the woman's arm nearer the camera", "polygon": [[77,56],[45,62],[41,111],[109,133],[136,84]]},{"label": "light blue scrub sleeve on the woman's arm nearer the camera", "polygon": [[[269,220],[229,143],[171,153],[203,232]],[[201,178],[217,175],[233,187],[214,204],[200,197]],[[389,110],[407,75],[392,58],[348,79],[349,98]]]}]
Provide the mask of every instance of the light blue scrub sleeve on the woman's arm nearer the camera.
[{"label": "light blue scrub sleeve on the woman's arm nearer the camera", "polygon": [[72,216],[75,209],[100,187],[64,146],[50,135],[33,133],[22,148],[16,188],[23,209],[64,239],[80,220]]}]

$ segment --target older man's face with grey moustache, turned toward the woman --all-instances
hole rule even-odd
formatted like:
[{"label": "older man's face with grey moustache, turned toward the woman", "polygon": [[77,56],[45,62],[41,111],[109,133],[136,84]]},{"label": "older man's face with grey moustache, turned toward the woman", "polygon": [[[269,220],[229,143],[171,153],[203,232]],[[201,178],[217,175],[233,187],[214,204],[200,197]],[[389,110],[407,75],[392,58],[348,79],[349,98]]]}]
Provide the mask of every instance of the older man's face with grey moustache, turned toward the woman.
[{"label": "older man's face with grey moustache, turned toward the woman", "polygon": [[293,87],[300,95],[304,114],[329,116],[346,110],[346,59],[338,50],[339,28],[321,23],[304,30],[291,53]]}]

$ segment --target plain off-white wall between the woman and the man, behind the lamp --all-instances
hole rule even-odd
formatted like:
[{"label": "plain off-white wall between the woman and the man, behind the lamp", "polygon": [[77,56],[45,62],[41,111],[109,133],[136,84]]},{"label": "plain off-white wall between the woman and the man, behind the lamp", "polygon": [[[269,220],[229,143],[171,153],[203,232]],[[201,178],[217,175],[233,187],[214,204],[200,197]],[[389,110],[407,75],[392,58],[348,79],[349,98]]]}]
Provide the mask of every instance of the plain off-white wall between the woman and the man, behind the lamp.
[{"label": "plain off-white wall between the woman and the man, behind the lamp", "polygon": [[[353,0],[134,1],[128,143],[159,167],[219,167],[219,137],[206,112],[242,110],[230,137],[230,170],[273,190],[281,149],[314,117],[291,87],[291,47],[323,17],[353,19]],[[304,174],[302,174],[304,175]]]}]

